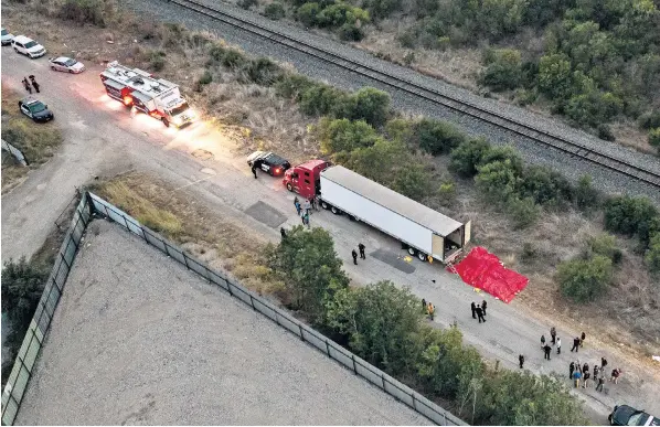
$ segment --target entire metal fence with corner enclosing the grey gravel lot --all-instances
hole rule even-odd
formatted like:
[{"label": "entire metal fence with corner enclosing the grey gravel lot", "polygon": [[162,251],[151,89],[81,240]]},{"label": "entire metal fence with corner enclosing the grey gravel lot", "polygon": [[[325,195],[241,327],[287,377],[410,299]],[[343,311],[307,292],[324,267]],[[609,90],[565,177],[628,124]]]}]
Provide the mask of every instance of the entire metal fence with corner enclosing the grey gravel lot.
[{"label": "entire metal fence with corner enclosing the grey gravel lot", "polygon": [[309,343],[330,359],[339,362],[371,384],[381,388],[388,395],[403,402],[418,414],[440,426],[465,426],[461,419],[443,409],[428,398],[415,392],[407,385],[385,374],[352,352],[343,349],[334,341],[328,339],[307,324],[300,322],[289,313],[275,307],[266,299],[257,296],[243,286],[235,284],[226,275],[209,268],[204,263],[187,254],[178,246],[159,236],[151,229],[142,226],[137,220],[100,199],[93,193],[85,193],[78,204],[71,227],[66,233],[60,248],[60,254],[46,282],[45,289],[39,301],[36,312],[23,339],[23,344],[17,355],[13,369],[2,393],[2,424],[12,425],[15,420],[23,399],[28,382],[32,375],[36,359],[43,345],[44,338],[50,329],[55,309],[62,296],[64,285],[68,277],[71,266],[83,238],[84,232],[92,221],[92,214],[98,213],[121,225],[130,233],[145,239],[168,256],[183,264],[188,269],[196,273],[212,284],[220,286],[231,296],[239,299],[255,311],[266,316],[281,328],[294,333],[302,341]]}]

